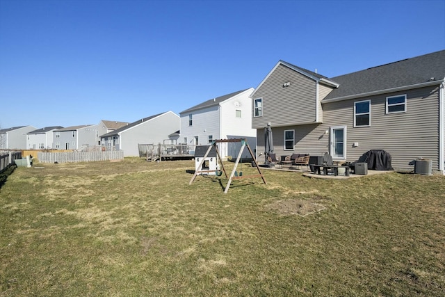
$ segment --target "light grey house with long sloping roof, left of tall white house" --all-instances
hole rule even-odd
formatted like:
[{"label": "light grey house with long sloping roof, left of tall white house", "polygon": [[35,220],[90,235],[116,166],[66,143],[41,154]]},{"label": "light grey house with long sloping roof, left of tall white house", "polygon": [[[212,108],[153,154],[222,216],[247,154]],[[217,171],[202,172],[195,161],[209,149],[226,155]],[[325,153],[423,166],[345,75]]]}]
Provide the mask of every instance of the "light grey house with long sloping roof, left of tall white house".
[{"label": "light grey house with long sloping roof, left of tall white house", "polygon": [[179,115],[167,111],[102,135],[101,145],[106,150],[123,150],[124,156],[139,156],[139,144],[170,143],[169,135],[178,131],[179,127]]}]

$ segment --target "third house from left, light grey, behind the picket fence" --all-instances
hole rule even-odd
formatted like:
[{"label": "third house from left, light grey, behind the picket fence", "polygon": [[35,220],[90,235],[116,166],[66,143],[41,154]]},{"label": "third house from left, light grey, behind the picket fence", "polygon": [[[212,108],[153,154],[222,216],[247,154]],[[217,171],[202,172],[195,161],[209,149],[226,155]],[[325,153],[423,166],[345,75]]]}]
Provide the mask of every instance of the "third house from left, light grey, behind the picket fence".
[{"label": "third house from left, light grey, behind the picket fence", "polygon": [[97,125],[82,125],[60,128],[53,131],[53,149],[79,150],[97,145]]}]

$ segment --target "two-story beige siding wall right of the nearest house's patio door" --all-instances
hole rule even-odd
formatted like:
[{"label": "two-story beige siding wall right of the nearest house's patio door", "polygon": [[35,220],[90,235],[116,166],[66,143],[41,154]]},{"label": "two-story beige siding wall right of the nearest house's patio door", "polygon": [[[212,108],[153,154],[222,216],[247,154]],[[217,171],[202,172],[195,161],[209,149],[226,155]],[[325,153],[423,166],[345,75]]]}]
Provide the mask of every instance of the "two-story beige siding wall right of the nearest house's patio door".
[{"label": "two-story beige siding wall right of the nearest house's patio door", "polygon": [[[386,150],[391,154],[392,166],[414,169],[412,160],[432,159],[433,170],[438,170],[439,95],[438,88],[421,88],[407,92],[389,93],[373,97],[324,104],[325,122],[348,126],[347,159],[355,161],[368,150]],[[405,113],[385,114],[386,97],[407,95]],[[371,99],[371,127],[353,127],[354,102]],[[343,118],[343,120],[339,120]],[[358,143],[358,147],[352,147]]]}]

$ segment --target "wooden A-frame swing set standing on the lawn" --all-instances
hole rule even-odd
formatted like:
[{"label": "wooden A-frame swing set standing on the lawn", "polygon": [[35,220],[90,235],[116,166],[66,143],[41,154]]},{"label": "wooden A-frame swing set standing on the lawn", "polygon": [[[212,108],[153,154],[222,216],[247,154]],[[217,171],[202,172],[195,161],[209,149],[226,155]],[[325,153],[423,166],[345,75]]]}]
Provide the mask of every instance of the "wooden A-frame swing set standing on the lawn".
[{"label": "wooden A-frame swing set standing on the lawn", "polygon": [[[223,160],[221,159],[220,152],[218,151],[218,145],[216,145],[217,143],[241,143],[241,149],[239,150],[238,156],[236,157],[234,169],[232,170],[232,173],[230,174],[229,182],[227,182],[227,186],[225,187],[225,190],[224,190],[225,194],[227,194],[227,191],[229,191],[229,187],[230,187],[230,184],[232,184],[232,180],[233,179],[261,177],[261,179],[263,179],[264,184],[267,184],[266,183],[266,179],[264,179],[263,173],[259,169],[259,166],[258,166],[258,163],[257,163],[257,159],[255,159],[255,156],[254,156],[252,150],[250,150],[250,146],[247,143],[247,141],[245,141],[245,138],[219,139],[219,140],[212,141],[211,145],[209,145],[209,149],[207,150],[206,154],[204,154],[204,157],[202,158],[201,163],[200,163],[200,165],[197,168],[202,168],[202,163],[204,163],[207,155],[211,151],[211,148],[215,147],[216,155],[218,156],[218,160],[219,160],[221,168],[222,168],[222,170],[216,170],[216,176],[220,177],[221,175],[223,175],[223,172],[224,172],[224,175],[227,178],[227,172],[225,171]],[[241,171],[242,167],[243,167],[243,163],[242,162],[241,162],[241,170],[240,170],[240,172],[236,171],[236,168],[238,167],[238,163],[239,163],[239,161],[241,159],[241,156],[243,155],[243,150],[244,150],[245,147],[248,148],[248,150],[250,152],[250,156],[252,156],[252,159],[253,159],[253,161],[255,163],[255,166],[256,166],[256,168],[258,170],[258,174],[257,175],[243,175],[243,171]],[[193,175],[192,179],[190,180],[190,182],[188,184],[191,185],[193,183],[193,181],[195,180],[196,176],[199,175],[200,173],[204,173],[204,172],[208,172],[208,170],[195,170],[195,174]]]}]

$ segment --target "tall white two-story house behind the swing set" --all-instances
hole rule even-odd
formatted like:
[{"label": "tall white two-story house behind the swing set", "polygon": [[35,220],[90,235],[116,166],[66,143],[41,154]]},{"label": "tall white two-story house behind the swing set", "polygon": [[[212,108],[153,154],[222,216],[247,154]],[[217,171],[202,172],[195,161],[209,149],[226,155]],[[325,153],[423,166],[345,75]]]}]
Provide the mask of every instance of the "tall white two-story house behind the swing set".
[{"label": "tall white two-story house behind the swing set", "polygon": [[[253,88],[209,99],[186,109],[181,115],[181,138],[187,145],[210,145],[216,139],[246,138],[252,150],[256,147],[257,132],[252,129]],[[222,158],[236,159],[241,143],[219,143]],[[243,157],[252,158],[248,150]]]}]

